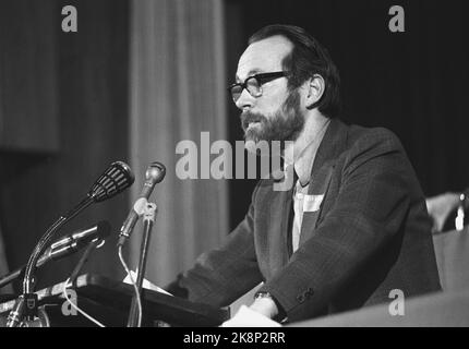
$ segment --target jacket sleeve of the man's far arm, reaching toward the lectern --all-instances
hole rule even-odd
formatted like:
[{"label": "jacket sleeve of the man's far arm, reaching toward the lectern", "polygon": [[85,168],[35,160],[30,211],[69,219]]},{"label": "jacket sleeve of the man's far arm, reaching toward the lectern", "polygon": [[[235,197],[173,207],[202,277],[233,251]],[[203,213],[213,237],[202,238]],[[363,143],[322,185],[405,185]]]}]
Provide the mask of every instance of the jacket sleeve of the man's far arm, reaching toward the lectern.
[{"label": "jacket sleeve of the man's far arm, reaching toward the lectern", "polygon": [[255,257],[253,219],[251,204],[220,249],[202,254],[194,267],[178,275],[165,289],[193,302],[227,306],[258,285],[262,275]]}]

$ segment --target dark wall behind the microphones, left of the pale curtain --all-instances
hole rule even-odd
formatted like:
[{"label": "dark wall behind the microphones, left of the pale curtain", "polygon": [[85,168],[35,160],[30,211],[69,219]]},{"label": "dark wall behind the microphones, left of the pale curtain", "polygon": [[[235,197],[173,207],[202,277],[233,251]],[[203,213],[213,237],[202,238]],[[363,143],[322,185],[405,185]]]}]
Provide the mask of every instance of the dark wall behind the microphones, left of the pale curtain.
[{"label": "dark wall behind the microphones, left of the pale curtain", "polygon": [[[77,33],[61,31],[61,9],[68,4],[79,9]],[[10,122],[9,132],[27,129],[38,139],[23,146],[12,136],[16,143],[1,147],[0,221],[12,269],[27,261],[46,229],[110,163],[127,161],[129,3],[15,0],[1,1],[0,13],[1,71],[8,69],[10,76],[3,81],[2,97],[8,97],[0,101],[1,118]],[[45,120],[55,122],[41,128]],[[117,230],[127,210],[121,194],[88,208],[62,232],[101,219]],[[86,268],[110,277],[123,274],[115,242],[116,233]],[[77,256],[45,267],[39,287],[63,280],[76,262]]]}]

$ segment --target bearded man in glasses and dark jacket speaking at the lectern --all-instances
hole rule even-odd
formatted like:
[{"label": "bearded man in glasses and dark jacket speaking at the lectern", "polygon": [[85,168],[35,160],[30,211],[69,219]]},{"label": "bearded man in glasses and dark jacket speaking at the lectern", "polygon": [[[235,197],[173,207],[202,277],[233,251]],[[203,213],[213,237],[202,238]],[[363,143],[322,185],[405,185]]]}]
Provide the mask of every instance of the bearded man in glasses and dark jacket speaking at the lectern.
[{"label": "bearded man in glasses and dark jacket speaking at the lectern", "polygon": [[416,173],[390,131],[338,120],[326,49],[302,28],[270,25],[250,38],[236,79],[229,91],[248,144],[285,142],[294,182],[276,191],[276,179],[261,180],[226,242],[167,289],[226,306],[263,282],[249,310],[289,322],[389,302],[395,289],[440,290]]}]

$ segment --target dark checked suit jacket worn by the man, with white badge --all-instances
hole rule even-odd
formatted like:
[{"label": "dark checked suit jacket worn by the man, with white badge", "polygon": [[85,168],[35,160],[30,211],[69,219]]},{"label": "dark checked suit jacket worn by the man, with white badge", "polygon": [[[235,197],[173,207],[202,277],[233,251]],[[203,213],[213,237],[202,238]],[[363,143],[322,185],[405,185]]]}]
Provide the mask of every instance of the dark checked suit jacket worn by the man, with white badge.
[{"label": "dark checked suit jacket worn by the man, with white badge", "polygon": [[218,250],[201,255],[168,290],[217,306],[264,281],[290,321],[390,302],[441,289],[422,190],[398,139],[385,129],[332,120],[317,151],[290,255],[292,191],[261,180],[244,220]]}]

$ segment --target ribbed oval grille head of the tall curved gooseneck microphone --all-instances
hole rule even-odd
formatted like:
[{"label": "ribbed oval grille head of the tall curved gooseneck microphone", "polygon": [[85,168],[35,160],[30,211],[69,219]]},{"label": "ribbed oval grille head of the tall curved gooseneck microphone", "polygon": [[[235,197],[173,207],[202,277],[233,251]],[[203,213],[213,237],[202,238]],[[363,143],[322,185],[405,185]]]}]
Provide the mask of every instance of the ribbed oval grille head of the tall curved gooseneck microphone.
[{"label": "ribbed oval grille head of the tall curved gooseneck microphone", "polygon": [[128,189],[134,180],[129,165],[122,161],[112,163],[93,184],[88,196],[96,203],[108,200]]}]

